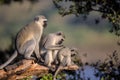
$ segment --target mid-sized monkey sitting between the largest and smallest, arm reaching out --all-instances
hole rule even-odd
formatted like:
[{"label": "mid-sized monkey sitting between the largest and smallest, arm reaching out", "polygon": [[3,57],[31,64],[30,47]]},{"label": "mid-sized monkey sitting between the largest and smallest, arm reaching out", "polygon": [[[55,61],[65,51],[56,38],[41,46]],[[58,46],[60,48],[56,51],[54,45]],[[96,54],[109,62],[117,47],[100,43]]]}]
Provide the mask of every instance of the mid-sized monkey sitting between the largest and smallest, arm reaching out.
[{"label": "mid-sized monkey sitting between the largest and smallest, arm reaching out", "polygon": [[58,31],[56,33],[50,33],[43,39],[43,47],[46,50],[45,65],[51,67],[51,64],[55,61],[58,51],[63,48],[63,41],[65,35],[63,32]]}]

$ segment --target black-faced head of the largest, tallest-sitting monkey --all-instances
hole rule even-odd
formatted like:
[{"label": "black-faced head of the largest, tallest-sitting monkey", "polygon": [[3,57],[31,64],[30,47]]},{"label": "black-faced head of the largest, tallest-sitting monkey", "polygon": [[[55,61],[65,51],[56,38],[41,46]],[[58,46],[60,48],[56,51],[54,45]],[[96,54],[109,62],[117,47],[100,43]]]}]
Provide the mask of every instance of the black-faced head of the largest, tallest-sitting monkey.
[{"label": "black-faced head of the largest, tallest-sitting monkey", "polygon": [[47,19],[43,15],[38,15],[34,18],[34,21],[38,23],[39,25],[42,25],[44,28],[47,27]]}]

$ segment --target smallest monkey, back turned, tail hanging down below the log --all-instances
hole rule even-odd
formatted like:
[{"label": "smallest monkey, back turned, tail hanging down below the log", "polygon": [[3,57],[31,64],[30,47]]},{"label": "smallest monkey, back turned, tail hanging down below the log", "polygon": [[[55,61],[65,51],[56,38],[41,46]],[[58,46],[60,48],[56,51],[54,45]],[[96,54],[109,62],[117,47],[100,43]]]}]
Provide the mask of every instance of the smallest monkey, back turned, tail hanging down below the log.
[{"label": "smallest monkey, back turned, tail hanging down below the log", "polygon": [[58,59],[59,65],[55,72],[54,80],[56,80],[56,76],[57,76],[58,72],[61,69],[63,69],[63,67],[66,67],[66,66],[69,67],[70,65],[74,64],[72,62],[71,58],[73,56],[75,56],[76,54],[78,54],[78,51],[76,48],[65,47],[65,48],[62,48],[61,50],[59,50],[59,52],[57,54],[57,59]]}]

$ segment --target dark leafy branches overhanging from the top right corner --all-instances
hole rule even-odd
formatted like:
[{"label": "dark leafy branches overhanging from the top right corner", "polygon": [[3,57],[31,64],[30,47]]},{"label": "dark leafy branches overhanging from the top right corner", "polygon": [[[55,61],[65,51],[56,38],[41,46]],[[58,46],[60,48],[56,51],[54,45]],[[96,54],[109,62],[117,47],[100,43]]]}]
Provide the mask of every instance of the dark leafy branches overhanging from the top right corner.
[{"label": "dark leafy branches overhanging from the top right corner", "polygon": [[[87,18],[89,12],[100,12],[103,19],[108,19],[113,27],[110,32],[120,36],[120,1],[119,0],[53,0],[54,5],[62,16],[81,14]],[[67,6],[66,6],[67,5]],[[95,19],[99,23],[99,19]]]}]

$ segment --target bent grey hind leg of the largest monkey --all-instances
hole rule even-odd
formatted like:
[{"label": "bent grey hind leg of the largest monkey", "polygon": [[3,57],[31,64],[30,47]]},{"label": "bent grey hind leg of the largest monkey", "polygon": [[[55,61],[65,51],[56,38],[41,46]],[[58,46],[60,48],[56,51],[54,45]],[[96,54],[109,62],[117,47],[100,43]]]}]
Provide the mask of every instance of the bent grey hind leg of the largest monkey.
[{"label": "bent grey hind leg of the largest monkey", "polygon": [[24,52],[24,57],[25,59],[33,59],[35,60],[34,57],[31,57],[33,54],[33,51],[35,49],[35,41],[34,40],[29,40],[24,44],[25,52]]}]

